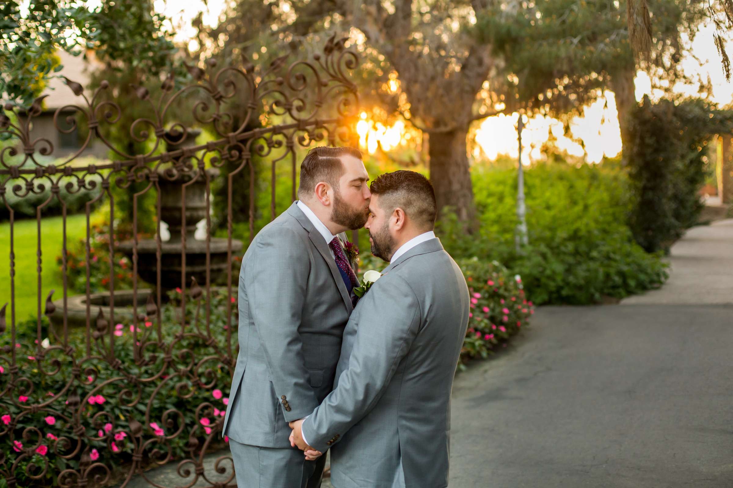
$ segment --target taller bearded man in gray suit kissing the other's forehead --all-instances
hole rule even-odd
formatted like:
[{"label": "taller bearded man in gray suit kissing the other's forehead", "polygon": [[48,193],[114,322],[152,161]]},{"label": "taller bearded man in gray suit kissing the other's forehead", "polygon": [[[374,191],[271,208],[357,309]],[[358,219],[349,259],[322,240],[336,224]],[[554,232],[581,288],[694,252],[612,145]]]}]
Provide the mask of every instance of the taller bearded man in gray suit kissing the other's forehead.
[{"label": "taller bearded man in gray suit kissing the other's forehead", "polygon": [[331,391],[358,279],[337,235],[367,222],[369,176],[353,148],[316,148],[299,201],[263,228],[239,274],[239,355],[222,435],[240,488],[320,487],[324,459],[292,448],[288,422]]}]

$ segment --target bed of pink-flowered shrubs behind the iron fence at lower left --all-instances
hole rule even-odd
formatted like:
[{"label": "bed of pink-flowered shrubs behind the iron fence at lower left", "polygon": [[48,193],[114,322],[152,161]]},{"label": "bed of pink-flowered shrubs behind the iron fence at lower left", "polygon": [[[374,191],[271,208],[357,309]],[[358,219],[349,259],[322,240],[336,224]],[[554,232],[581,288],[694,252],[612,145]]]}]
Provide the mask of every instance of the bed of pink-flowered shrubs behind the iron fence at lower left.
[{"label": "bed of pink-flowered shrubs behind the iron fence at lower left", "polygon": [[[198,293],[198,296],[196,294]],[[0,353],[0,488],[10,476],[19,487],[58,486],[62,470],[113,480],[126,476],[133,455],[136,469],[155,462],[191,459],[224,446],[221,424],[228,405],[229,383],[236,356],[227,342],[226,294],[212,292],[210,302],[199,288],[191,290],[181,334],[180,293],[157,318],[102,324],[92,333],[86,353],[83,331],[70,333],[66,350],[53,339],[35,345],[16,337],[18,373],[10,380],[10,352]],[[206,312],[210,314],[206,326]],[[236,307],[234,307],[236,310]],[[232,316],[232,326],[237,323]],[[135,335],[136,334],[136,335]],[[111,336],[114,335],[114,349]],[[139,348],[134,348],[137,342]],[[85,359],[86,358],[86,359]],[[79,362],[85,359],[84,362]],[[20,376],[21,380],[18,379]],[[37,408],[29,409],[30,405]],[[34,410],[36,410],[34,412]],[[13,467],[14,463],[18,465]],[[45,469],[45,475],[38,476]],[[105,469],[106,468],[106,469]],[[74,478],[67,473],[67,478]],[[69,481],[67,479],[66,481]],[[90,485],[91,486],[91,485]]]}]

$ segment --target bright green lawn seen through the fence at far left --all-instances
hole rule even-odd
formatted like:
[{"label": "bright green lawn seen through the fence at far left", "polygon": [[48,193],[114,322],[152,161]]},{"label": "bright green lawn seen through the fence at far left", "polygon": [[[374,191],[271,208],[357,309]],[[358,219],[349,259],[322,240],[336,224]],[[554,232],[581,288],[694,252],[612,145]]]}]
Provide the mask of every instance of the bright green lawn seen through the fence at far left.
[{"label": "bright green lawn seen through the fence at far left", "polygon": [[[36,264],[37,226],[35,220],[15,222],[15,319],[37,315],[38,272]],[[66,219],[67,244],[86,235],[86,217],[71,215]],[[45,297],[56,290],[54,299],[63,296],[64,285],[56,256],[63,245],[62,217],[41,220],[41,313]],[[10,222],[0,223],[0,307],[8,303],[6,318],[10,327]]]}]

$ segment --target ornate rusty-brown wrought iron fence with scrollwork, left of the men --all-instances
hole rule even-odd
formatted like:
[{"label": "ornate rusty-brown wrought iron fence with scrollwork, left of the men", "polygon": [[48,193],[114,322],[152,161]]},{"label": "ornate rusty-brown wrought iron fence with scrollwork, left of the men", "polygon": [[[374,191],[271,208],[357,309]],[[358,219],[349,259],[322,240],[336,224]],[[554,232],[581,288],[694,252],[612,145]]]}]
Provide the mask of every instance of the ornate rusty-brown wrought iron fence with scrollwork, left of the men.
[{"label": "ornate rusty-brown wrought iron fence with scrollwork, left of the men", "polygon": [[[221,423],[236,361],[237,309],[233,279],[243,242],[234,233],[232,195],[235,177],[249,172],[248,239],[254,236],[255,187],[252,160],[270,164],[270,217],[276,216],[276,175],[289,165],[290,199],[295,200],[298,149],[319,143],[355,145],[353,120],[358,110],[350,71],[358,64],[345,40],[332,37],[320,53],[288,63],[276,59],[267,67],[189,67],[191,78],[162,81],[158,100],[137,88],[139,103],[150,115],[125,127],[132,140],[152,140],[145,154],[128,154],[108,137],[125,107],[105,97],[108,83],[92,94],[67,80],[75,103],[54,113],[56,130],[68,133],[77,124],[88,128],[81,148],[58,164],[42,164],[37,155],[54,155],[48,138],[34,138],[34,119],[43,97],[20,110],[0,110],[0,134],[10,143],[0,151],[0,202],[7,211],[8,233],[0,236],[10,251],[10,274],[1,287],[10,302],[0,304],[0,478],[8,487],[127,486],[130,479],[178,459],[186,486],[235,486],[226,451],[207,472],[203,458],[226,445]],[[178,87],[177,87],[178,85]],[[169,108],[191,102],[196,127],[216,134],[195,143],[195,127],[171,120]],[[237,103],[232,105],[232,101]],[[235,109],[232,107],[239,107]],[[234,110],[238,110],[236,113]],[[278,124],[251,129],[267,110]],[[237,124],[237,127],[234,127]],[[74,162],[94,141],[114,154],[101,165]],[[226,175],[220,168],[229,163]],[[226,237],[211,233],[211,185],[226,178]],[[133,192],[128,236],[115,226],[114,187]],[[47,188],[50,189],[48,192]],[[15,229],[19,201],[45,195],[35,207],[37,266],[17,269]],[[65,197],[87,194],[85,238],[80,256],[67,242],[70,209]],[[139,202],[155,195],[155,233],[139,233]],[[108,204],[108,224],[95,230],[92,214]],[[62,239],[60,293],[48,290],[43,269],[42,220],[45,209],[60,208]],[[205,239],[194,239],[196,222],[205,219]],[[169,225],[163,239],[161,222]],[[244,239],[246,240],[246,239]],[[119,290],[120,263],[130,263],[131,290]],[[107,269],[98,291],[91,283],[98,258]],[[54,258],[52,256],[51,258]],[[105,262],[108,258],[108,262]],[[233,269],[234,268],[234,269]],[[81,271],[84,293],[73,296],[69,279]],[[98,269],[98,268],[97,268]],[[214,286],[216,277],[224,286]],[[37,282],[34,333],[18,329],[15,286]],[[141,281],[152,285],[143,288]],[[61,295],[57,297],[57,295]],[[48,336],[43,332],[48,318]],[[215,479],[216,478],[216,479]],[[182,478],[183,479],[183,478]],[[150,486],[163,485],[150,481]]]}]

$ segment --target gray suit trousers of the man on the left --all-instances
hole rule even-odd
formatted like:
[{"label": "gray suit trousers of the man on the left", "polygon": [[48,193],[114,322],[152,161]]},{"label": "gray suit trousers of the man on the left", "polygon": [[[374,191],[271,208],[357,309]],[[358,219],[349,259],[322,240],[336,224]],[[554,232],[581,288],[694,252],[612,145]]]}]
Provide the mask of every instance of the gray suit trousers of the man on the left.
[{"label": "gray suit trousers of the man on the left", "polygon": [[320,488],[325,456],[306,461],[296,448],[249,446],[229,439],[237,488]]}]

